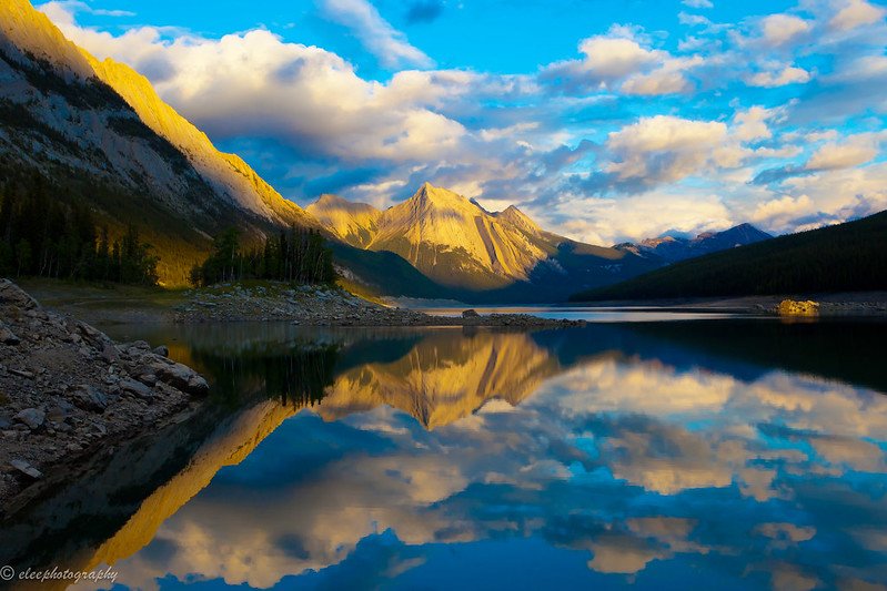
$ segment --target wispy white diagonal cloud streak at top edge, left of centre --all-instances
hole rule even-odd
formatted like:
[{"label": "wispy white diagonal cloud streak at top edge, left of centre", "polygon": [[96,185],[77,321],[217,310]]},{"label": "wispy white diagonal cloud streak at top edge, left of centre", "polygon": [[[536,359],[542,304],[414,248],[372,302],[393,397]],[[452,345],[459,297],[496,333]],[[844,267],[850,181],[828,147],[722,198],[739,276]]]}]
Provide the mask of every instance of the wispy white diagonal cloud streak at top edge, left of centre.
[{"label": "wispy white diagonal cloud streak at top edge, left of centre", "polygon": [[354,35],[383,65],[433,65],[431,58],[414,48],[403,32],[394,29],[367,0],[322,0],[325,14],[354,31]]}]

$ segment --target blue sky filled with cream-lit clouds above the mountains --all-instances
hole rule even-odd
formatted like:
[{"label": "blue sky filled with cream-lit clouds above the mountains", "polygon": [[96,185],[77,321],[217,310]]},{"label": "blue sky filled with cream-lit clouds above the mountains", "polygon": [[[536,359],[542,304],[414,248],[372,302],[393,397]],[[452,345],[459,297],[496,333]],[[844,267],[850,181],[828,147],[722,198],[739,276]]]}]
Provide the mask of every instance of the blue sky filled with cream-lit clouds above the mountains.
[{"label": "blue sky filled with cream-lit clouds above the mountains", "polygon": [[424,181],[594,243],[887,208],[868,0],[42,4],[281,193]]}]

